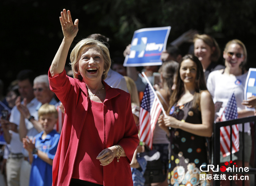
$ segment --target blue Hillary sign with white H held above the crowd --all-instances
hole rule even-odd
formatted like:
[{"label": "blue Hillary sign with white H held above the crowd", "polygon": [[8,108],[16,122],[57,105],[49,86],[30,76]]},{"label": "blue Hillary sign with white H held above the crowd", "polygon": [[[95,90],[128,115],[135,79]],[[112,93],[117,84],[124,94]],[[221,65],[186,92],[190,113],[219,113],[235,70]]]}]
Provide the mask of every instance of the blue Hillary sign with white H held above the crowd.
[{"label": "blue Hillary sign with white H held above the crowd", "polygon": [[143,28],[136,30],[132,38],[130,55],[125,67],[162,65],[160,55],[166,49],[171,27]]}]

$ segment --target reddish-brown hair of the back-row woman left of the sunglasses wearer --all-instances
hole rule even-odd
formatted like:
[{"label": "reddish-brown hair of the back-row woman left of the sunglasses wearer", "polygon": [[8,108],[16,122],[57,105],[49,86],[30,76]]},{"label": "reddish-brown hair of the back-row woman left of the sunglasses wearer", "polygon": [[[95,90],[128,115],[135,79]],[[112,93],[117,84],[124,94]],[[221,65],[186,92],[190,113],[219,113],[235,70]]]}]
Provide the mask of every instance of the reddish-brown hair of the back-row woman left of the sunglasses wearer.
[{"label": "reddish-brown hair of the back-row woman left of the sunglasses wearer", "polygon": [[220,47],[217,43],[217,41],[211,37],[210,35],[207,34],[196,34],[194,36],[194,43],[196,41],[196,39],[202,39],[204,41],[204,43],[206,43],[207,45],[209,45],[209,47],[212,49],[213,47],[215,48],[214,50],[212,50],[212,55],[211,55],[211,61],[213,62],[217,62],[220,59]]}]

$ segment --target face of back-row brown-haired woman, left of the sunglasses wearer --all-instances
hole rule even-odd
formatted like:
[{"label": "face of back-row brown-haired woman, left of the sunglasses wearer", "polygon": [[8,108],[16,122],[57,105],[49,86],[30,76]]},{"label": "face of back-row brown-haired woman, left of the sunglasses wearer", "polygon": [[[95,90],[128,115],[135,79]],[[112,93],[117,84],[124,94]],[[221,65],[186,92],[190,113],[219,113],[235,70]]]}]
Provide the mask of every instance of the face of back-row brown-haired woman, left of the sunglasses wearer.
[{"label": "face of back-row brown-haired woman, left of the sunglasses wearer", "polygon": [[204,61],[211,60],[212,49],[202,39],[196,39],[194,42],[194,54],[201,63],[204,63]]}]

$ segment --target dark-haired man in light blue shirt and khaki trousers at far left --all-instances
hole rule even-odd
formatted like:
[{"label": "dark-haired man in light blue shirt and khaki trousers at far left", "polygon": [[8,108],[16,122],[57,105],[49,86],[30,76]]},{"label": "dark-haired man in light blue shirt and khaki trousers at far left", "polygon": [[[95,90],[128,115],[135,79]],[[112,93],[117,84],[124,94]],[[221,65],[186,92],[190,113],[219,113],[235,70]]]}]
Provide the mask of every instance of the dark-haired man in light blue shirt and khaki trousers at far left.
[{"label": "dark-haired man in light blue shirt and khaki trousers at far left", "polygon": [[[18,91],[20,93],[19,104],[24,104],[26,102],[26,109],[29,113],[33,114],[33,116],[37,119],[37,111],[36,107],[40,102],[34,97],[33,92],[33,80],[35,78],[34,72],[32,70],[22,70],[18,73]],[[21,99],[23,99],[22,102]],[[10,154],[8,155],[7,163],[6,163],[6,172],[7,172],[7,182],[8,186],[23,186],[28,183],[26,181],[29,179],[29,173],[26,170],[26,167],[29,167],[28,163],[28,153],[24,149],[22,149],[22,142],[19,137],[19,127],[21,126],[20,118],[21,114],[17,108],[14,108],[11,111],[10,120],[1,119],[1,125],[6,127],[4,132],[4,138],[8,144],[10,150]],[[24,120],[24,119],[23,119]],[[24,127],[26,128],[26,135],[34,136],[39,131],[34,127],[32,123],[30,123],[27,119],[24,122]],[[22,171],[20,171],[22,170]],[[22,172],[25,175],[22,175]]]}]

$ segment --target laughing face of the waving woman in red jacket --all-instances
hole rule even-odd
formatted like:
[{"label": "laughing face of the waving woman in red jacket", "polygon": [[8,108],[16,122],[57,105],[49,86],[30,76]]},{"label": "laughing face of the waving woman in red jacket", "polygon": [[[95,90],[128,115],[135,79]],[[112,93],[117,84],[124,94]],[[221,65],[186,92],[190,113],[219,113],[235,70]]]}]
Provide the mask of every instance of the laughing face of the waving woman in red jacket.
[{"label": "laughing face of the waving woman in red jacket", "polygon": [[104,71],[104,59],[100,49],[95,45],[84,47],[80,56],[79,71],[84,82],[101,81]]}]

